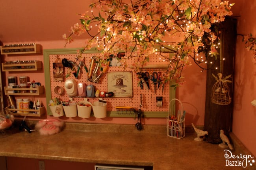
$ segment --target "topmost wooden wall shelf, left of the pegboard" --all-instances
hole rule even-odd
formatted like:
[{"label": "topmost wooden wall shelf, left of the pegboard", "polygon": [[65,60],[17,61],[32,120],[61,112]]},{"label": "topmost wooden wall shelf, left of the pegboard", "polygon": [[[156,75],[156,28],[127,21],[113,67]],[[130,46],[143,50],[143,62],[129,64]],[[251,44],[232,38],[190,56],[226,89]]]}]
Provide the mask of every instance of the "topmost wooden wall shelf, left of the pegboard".
[{"label": "topmost wooden wall shelf, left of the pegboard", "polygon": [[40,44],[31,44],[20,46],[0,46],[1,54],[35,54],[41,53],[41,45]]}]

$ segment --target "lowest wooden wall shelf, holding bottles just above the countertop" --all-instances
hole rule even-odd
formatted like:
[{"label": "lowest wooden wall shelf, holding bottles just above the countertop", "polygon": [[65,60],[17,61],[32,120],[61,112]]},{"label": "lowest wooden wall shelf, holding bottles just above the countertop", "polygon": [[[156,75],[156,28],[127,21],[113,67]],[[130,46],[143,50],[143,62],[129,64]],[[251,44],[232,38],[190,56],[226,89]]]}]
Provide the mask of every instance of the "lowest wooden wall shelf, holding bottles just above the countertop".
[{"label": "lowest wooden wall shelf, holding bottles just above the countertop", "polygon": [[6,108],[10,112],[12,111],[27,111],[30,113],[12,113],[14,116],[32,116],[32,117],[41,117],[43,114],[45,114],[45,106],[40,107],[38,110],[34,109],[11,109]]}]

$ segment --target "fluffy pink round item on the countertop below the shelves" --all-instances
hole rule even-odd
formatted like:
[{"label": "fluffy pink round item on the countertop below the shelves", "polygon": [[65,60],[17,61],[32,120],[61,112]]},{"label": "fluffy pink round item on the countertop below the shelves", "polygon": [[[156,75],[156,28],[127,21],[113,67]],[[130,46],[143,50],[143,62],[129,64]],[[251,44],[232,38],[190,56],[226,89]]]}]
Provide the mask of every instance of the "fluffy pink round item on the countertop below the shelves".
[{"label": "fluffy pink round item on the countertop below the shelves", "polygon": [[56,119],[45,119],[37,122],[35,129],[39,131],[41,135],[53,135],[59,133],[64,126],[64,122]]}]

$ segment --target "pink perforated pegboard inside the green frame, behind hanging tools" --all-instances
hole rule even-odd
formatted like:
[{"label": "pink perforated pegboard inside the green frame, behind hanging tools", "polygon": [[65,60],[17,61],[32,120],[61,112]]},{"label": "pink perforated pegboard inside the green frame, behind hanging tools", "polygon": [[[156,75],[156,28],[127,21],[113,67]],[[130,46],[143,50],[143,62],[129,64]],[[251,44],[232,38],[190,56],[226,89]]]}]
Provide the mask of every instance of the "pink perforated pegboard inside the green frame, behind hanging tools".
[{"label": "pink perforated pegboard inside the green frame, behind hanging tools", "polygon": [[[85,57],[85,65],[89,69],[90,66],[90,59],[93,56],[99,56],[100,53],[86,53],[83,54],[82,57]],[[76,54],[65,54],[65,55],[50,55],[49,60],[50,60],[50,81],[51,81],[51,94],[52,94],[52,99],[55,97],[60,98],[62,101],[68,101],[69,97],[65,93],[62,95],[58,95],[54,92],[54,88],[56,86],[62,86],[64,87],[64,82],[66,80],[65,75],[69,72],[69,68],[64,69],[64,79],[62,82],[54,81],[54,76],[53,76],[53,63],[60,62],[63,58],[67,58],[68,60],[74,61],[76,58]],[[154,59],[150,59],[150,63],[153,64],[163,64],[163,60],[158,56],[158,55],[152,55]],[[127,65],[130,66],[134,62],[137,62],[136,57],[131,58],[127,60]],[[150,64],[149,63],[149,64]],[[78,62],[77,62],[78,64]],[[75,79],[74,75],[70,75],[67,79],[75,79],[76,82],[85,82],[86,85],[93,85],[95,89],[99,89],[100,91],[108,91],[107,89],[107,73],[104,73],[102,77],[100,78],[99,83],[94,83],[94,82],[89,82],[87,81],[87,73],[83,67],[82,69],[82,74],[78,77],[78,79]],[[115,67],[109,67],[108,72],[116,72],[116,71],[132,71],[132,81],[133,81],[133,97],[109,97],[105,98],[106,101],[108,102],[107,104],[107,110],[108,111],[115,111],[115,106],[132,106],[135,108],[139,108],[139,102],[140,102],[140,94],[143,95],[143,111],[155,111],[155,112],[168,112],[168,103],[169,103],[169,85],[166,84],[164,91],[162,93],[162,87],[160,86],[160,89],[156,91],[156,94],[154,93],[154,85],[150,82],[150,89],[146,90],[145,88],[141,90],[141,88],[138,86],[138,78],[137,75],[134,71],[134,69],[131,69],[129,67],[126,67],[124,69],[123,66],[115,66]],[[147,71],[149,73],[152,73],[154,71],[165,71],[163,69],[143,69],[142,71]],[[163,97],[163,106],[162,107],[157,107],[156,106],[156,97],[162,96]],[[87,98],[89,102],[93,103],[95,101],[98,101],[98,98]],[[78,98],[74,97],[74,101],[82,101],[83,98]]]}]

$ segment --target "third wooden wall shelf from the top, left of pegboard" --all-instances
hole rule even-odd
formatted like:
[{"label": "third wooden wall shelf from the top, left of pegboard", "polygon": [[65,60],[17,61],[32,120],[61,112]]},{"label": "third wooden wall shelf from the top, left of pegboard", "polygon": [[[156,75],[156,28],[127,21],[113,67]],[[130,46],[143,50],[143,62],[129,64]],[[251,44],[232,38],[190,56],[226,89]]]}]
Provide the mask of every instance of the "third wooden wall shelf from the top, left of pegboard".
[{"label": "third wooden wall shelf from the top, left of pegboard", "polygon": [[[45,87],[44,86],[38,86],[36,88],[7,88],[4,87],[4,93],[6,95],[41,95],[44,93]],[[13,91],[22,91],[22,90],[26,90],[28,91],[28,93],[13,93]],[[36,91],[36,93],[30,93],[30,90]],[[9,91],[11,91],[12,93],[10,93]]]}]

